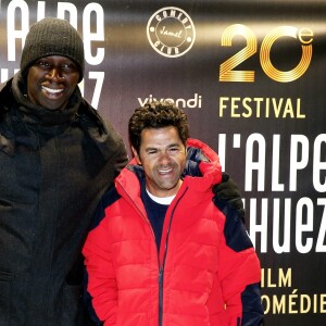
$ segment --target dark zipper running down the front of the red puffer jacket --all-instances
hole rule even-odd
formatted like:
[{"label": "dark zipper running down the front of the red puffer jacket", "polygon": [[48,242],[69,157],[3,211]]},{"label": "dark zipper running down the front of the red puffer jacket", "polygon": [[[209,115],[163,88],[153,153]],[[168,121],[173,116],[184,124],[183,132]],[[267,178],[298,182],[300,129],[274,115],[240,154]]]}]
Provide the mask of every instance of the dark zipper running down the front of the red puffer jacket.
[{"label": "dark zipper running down the front of the red puffer jacket", "polygon": [[[163,326],[163,276],[164,276],[164,266],[165,266],[165,260],[167,254],[167,247],[168,247],[168,237],[170,237],[170,230],[172,226],[172,220],[174,217],[175,210],[180,202],[180,200],[184,198],[185,193],[187,192],[188,187],[185,189],[184,193],[178,198],[177,202],[175,203],[173,211],[171,213],[171,218],[168,222],[168,227],[166,230],[166,237],[165,237],[165,246],[164,246],[164,254],[163,254],[163,261],[162,265],[160,264],[160,258],[159,258],[159,326]],[[158,253],[158,256],[160,253]]]}]

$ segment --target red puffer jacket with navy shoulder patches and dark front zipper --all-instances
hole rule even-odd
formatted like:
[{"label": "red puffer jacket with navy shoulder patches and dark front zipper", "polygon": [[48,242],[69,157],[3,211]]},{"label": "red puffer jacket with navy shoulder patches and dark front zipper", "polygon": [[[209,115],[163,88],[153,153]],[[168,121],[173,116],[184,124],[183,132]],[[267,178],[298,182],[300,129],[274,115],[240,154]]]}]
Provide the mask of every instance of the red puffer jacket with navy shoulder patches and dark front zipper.
[{"label": "red puffer jacket with navy shoulder patches and dark front zipper", "polygon": [[201,177],[185,177],[170,205],[159,255],[140,198],[141,167],[135,161],[103,199],[103,218],[90,231],[84,254],[88,291],[104,325],[237,326],[261,321],[259,291],[251,288],[260,281],[259,259],[237,212],[211,189],[221,181],[218,158],[198,140],[189,140],[188,153],[189,148],[209,162],[200,163]]}]

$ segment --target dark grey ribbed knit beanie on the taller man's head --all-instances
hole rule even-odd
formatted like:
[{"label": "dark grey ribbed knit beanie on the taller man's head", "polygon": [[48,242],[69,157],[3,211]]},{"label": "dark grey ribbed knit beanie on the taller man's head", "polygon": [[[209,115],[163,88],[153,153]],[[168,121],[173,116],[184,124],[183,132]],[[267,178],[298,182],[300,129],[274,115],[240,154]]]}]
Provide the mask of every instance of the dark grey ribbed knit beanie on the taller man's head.
[{"label": "dark grey ribbed knit beanie on the taller man's head", "polygon": [[65,20],[47,17],[30,26],[21,59],[21,72],[27,76],[29,67],[40,58],[61,55],[78,67],[84,76],[84,43],[77,30]]}]

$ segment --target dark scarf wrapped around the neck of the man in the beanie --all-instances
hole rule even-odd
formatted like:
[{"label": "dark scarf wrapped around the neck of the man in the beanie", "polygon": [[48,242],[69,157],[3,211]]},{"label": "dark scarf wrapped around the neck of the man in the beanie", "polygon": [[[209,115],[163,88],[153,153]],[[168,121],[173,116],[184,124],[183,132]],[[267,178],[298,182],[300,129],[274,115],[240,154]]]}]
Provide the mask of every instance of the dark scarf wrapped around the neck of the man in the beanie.
[{"label": "dark scarf wrapped around the neck of the man in the beanie", "polygon": [[18,103],[18,110],[29,118],[30,122],[45,126],[64,125],[73,122],[77,116],[77,111],[82,102],[79,87],[76,87],[67,106],[64,110],[48,110],[32,103],[26,93],[26,82],[17,73],[12,80],[12,92]]}]

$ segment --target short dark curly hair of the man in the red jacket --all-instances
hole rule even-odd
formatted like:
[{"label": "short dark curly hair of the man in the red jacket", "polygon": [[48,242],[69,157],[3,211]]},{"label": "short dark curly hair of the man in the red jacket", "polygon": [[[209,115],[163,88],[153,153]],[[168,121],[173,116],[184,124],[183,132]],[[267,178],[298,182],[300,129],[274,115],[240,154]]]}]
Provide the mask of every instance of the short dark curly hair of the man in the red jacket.
[{"label": "short dark curly hair of the man in the red jacket", "polygon": [[170,101],[152,101],[135,110],[129,118],[129,141],[139,153],[141,131],[146,128],[164,128],[175,126],[183,143],[189,138],[189,124],[184,110]]}]

